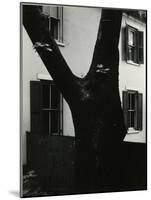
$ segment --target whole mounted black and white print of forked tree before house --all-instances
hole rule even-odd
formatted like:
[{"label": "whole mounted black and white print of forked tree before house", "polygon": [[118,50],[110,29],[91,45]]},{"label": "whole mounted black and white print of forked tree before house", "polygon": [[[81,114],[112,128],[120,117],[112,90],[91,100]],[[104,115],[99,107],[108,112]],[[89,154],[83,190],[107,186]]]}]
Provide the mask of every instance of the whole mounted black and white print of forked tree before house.
[{"label": "whole mounted black and white print of forked tree before house", "polygon": [[147,190],[147,10],[20,3],[20,195]]}]

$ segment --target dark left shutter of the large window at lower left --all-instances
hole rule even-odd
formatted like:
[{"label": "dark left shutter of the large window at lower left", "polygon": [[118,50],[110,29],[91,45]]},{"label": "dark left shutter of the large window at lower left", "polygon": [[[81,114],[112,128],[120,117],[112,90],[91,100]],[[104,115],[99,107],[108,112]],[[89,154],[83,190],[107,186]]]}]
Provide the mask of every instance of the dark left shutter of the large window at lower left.
[{"label": "dark left shutter of the large window at lower left", "polygon": [[31,132],[41,131],[41,84],[40,81],[30,81]]}]

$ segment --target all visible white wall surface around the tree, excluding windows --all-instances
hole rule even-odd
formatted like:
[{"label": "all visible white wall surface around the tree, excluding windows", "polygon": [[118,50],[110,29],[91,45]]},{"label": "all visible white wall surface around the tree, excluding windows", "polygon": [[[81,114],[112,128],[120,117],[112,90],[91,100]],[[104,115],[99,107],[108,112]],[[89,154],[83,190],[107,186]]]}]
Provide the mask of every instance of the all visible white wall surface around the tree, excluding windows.
[{"label": "all visible white wall surface around the tree, excluding windows", "polygon": [[[97,36],[99,20],[101,16],[100,8],[80,8],[64,7],[63,18],[63,36],[64,47],[59,47],[65,57],[72,72],[77,76],[84,76],[89,70],[91,63],[95,40]],[[125,19],[122,26],[125,25]],[[137,23],[136,23],[137,24]],[[135,24],[135,25],[136,25]],[[144,30],[142,24],[138,25]],[[23,127],[22,127],[22,148],[23,163],[26,163],[26,131],[30,131],[30,80],[37,80],[37,74],[48,74],[44,64],[38,54],[34,51],[30,38],[22,27],[23,36]],[[121,38],[119,43],[121,49]],[[125,86],[131,89],[137,89],[143,94],[145,91],[144,70],[145,65],[136,67],[126,64],[120,56],[120,90]],[[70,86],[69,86],[70,87]],[[145,95],[143,95],[145,98]],[[145,99],[143,101],[145,103]],[[145,105],[144,105],[145,108]],[[63,102],[63,133],[64,135],[74,136],[74,127],[72,116],[67,103]],[[143,131],[139,134],[131,134],[126,137],[126,141],[145,142],[145,109],[143,109]]]}]

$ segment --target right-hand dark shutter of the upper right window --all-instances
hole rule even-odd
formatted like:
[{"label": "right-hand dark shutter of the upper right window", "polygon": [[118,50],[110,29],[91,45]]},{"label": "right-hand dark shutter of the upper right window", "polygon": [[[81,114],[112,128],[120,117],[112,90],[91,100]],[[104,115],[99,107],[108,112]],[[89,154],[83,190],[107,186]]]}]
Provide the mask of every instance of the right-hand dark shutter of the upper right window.
[{"label": "right-hand dark shutter of the upper right window", "polygon": [[138,58],[139,64],[144,63],[144,34],[138,31]]}]

